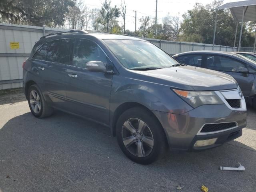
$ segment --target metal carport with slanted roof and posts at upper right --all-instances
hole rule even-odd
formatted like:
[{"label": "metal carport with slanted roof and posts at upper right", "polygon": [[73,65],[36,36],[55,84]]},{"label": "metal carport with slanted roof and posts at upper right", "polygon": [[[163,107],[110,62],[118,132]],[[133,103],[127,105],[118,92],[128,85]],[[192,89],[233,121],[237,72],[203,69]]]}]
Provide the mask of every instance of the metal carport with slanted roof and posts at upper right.
[{"label": "metal carport with slanted roof and posts at upper right", "polygon": [[[214,48],[218,10],[226,9],[226,8],[230,9],[230,12],[236,22],[236,33],[237,33],[238,22],[241,22],[240,37],[239,37],[239,44],[238,44],[238,51],[240,51],[242,29],[243,29],[244,22],[256,21],[256,0],[231,2],[231,3],[226,3],[226,4],[216,8],[214,36],[213,36],[213,43],[212,43],[213,47],[212,48]],[[255,42],[256,42],[256,39],[255,39]],[[255,42],[254,42],[254,49],[255,49]],[[235,44],[236,44],[236,34],[235,34],[235,40],[234,40],[234,47],[235,47]]]}]

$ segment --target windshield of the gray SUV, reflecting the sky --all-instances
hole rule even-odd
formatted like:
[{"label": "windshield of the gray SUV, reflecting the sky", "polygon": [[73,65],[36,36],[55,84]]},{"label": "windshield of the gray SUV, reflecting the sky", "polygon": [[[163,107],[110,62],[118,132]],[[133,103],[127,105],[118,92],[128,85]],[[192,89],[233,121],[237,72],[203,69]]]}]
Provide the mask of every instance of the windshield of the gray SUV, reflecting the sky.
[{"label": "windshield of the gray SUV, reflecting the sky", "polygon": [[179,64],[153,44],[140,40],[104,40],[120,62],[132,70],[152,70]]}]

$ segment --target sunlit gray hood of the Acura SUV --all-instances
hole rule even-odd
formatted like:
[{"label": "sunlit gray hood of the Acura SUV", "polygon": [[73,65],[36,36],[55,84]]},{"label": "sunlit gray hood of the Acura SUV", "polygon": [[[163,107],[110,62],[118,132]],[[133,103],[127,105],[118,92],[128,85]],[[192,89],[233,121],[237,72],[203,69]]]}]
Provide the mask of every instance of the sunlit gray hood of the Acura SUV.
[{"label": "sunlit gray hood of the Acura SUV", "polygon": [[157,83],[168,84],[173,88],[184,90],[228,90],[238,87],[236,80],[228,74],[193,66],[179,66],[137,72],[157,78],[159,80]]}]

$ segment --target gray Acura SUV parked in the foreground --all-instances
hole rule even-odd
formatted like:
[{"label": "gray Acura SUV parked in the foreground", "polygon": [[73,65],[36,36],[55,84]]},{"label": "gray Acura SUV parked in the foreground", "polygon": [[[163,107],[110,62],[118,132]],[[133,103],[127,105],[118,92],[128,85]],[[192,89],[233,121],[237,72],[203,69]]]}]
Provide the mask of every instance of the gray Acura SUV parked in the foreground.
[{"label": "gray Acura SUV parked in the foreground", "polygon": [[242,135],[246,104],[230,75],[178,63],[146,40],[71,30],[40,38],[23,64],[37,118],[54,109],[108,126],[141,164]]}]

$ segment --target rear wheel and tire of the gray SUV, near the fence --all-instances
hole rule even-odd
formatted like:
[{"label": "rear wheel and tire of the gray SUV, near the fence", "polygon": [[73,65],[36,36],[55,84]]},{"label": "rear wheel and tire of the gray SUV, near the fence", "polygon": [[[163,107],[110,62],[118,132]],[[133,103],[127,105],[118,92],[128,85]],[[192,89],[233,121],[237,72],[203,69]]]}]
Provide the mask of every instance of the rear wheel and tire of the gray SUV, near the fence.
[{"label": "rear wheel and tire of the gray SUV, near the fence", "polygon": [[36,84],[28,89],[28,105],[32,114],[37,118],[45,118],[52,115],[53,109],[47,105]]}]

